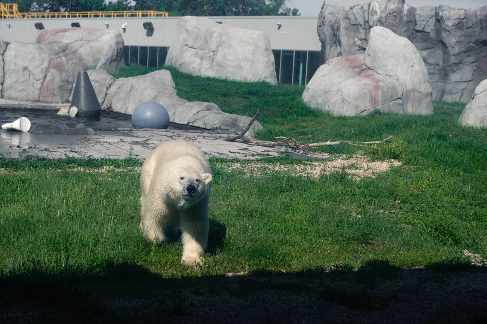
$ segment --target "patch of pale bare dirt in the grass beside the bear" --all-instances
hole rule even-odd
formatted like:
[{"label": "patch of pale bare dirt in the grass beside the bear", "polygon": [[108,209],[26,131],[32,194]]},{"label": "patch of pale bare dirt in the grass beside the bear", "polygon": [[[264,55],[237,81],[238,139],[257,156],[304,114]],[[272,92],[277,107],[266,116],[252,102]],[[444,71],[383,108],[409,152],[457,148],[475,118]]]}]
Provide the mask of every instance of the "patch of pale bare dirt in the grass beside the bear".
[{"label": "patch of pale bare dirt in the grass beside the bear", "polygon": [[283,163],[218,163],[217,167],[225,171],[241,170],[246,177],[263,176],[271,172],[287,172],[295,176],[318,178],[323,174],[344,170],[352,178],[359,180],[363,177],[374,178],[377,174],[388,171],[391,166],[399,166],[401,162],[397,160],[371,161],[369,158],[360,154],[352,157],[337,156],[329,154],[331,160],[306,161],[303,164],[283,164]]}]

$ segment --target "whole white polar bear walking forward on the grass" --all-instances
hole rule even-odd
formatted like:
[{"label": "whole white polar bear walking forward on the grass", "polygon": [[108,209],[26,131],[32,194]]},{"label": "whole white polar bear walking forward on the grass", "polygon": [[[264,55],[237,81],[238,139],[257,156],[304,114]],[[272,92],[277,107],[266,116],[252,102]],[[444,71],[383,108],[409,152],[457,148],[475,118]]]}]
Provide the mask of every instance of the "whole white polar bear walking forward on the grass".
[{"label": "whole white polar bear walking forward on the grass", "polygon": [[140,230],[161,243],[165,231],[179,222],[181,262],[201,264],[208,242],[208,202],[212,173],[205,154],[184,140],[164,142],[146,158],[140,172]]}]

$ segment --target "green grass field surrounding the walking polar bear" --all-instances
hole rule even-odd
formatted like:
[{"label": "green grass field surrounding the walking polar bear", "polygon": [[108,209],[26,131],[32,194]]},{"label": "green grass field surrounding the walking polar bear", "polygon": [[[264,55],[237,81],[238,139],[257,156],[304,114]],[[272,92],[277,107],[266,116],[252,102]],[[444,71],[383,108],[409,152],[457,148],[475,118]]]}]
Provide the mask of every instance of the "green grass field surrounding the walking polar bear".
[{"label": "green grass field surrounding the walking polar bear", "polygon": [[[0,274],[8,278],[96,277],[150,273],[158,278],[227,273],[322,272],[427,266],[468,268],[464,250],[487,259],[487,129],[460,127],[462,103],[435,102],[433,116],[374,113],[334,117],[307,107],[303,87],[200,78],[170,68],[178,95],[252,116],[258,136],[308,136],[332,156],[362,154],[401,165],[359,180],[347,169],[318,178],[286,171],[248,175],[210,159],[213,188],[204,266],[180,264],[175,240],[161,246],[139,233],[141,162],[131,157],[59,161],[0,159]],[[116,77],[149,72],[122,68]],[[264,165],[299,165],[289,156]],[[131,273],[131,267],[134,270]],[[117,269],[116,271],[114,269]],[[127,270],[129,269],[129,270]],[[134,274],[135,273],[135,274]],[[12,279],[14,280],[14,279]]]}]

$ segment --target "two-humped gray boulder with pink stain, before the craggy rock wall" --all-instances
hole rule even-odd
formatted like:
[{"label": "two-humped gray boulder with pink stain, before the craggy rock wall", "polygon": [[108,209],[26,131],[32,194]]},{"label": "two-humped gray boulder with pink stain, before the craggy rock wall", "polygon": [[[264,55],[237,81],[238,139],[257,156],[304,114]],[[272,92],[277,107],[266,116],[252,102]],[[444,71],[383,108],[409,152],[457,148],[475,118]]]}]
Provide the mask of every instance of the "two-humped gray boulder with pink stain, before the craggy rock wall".
[{"label": "two-humped gray boulder with pink stain, before the craggy rock wall", "polygon": [[333,115],[384,113],[431,115],[431,87],[412,43],[383,27],[370,33],[365,54],[335,57],[320,66],[302,99]]}]

